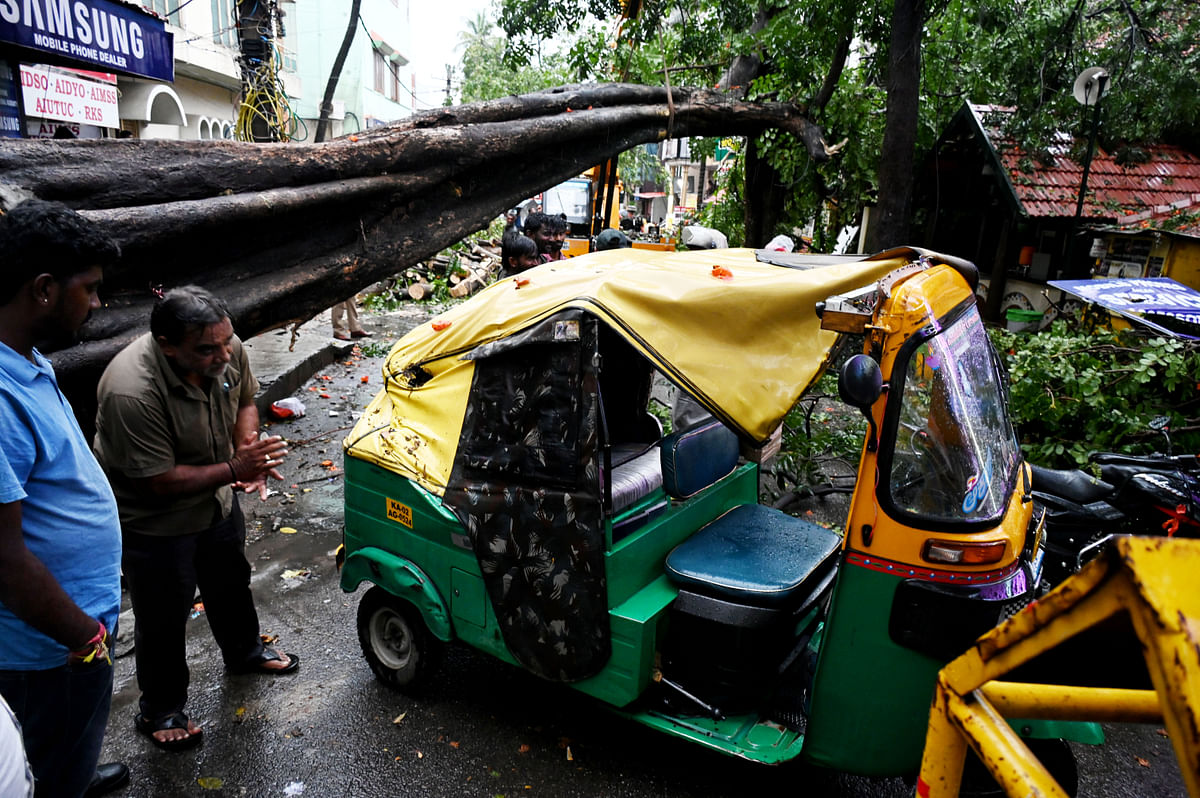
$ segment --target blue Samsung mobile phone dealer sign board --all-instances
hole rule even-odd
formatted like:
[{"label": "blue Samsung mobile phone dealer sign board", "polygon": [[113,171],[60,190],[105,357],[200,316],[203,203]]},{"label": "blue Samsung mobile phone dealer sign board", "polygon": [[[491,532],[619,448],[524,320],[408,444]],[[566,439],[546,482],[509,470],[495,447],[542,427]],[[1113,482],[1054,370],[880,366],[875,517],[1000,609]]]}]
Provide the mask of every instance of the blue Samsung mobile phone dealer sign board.
[{"label": "blue Samsung mobile phone dealer sign board", "polygon": [[58,62],[175,79],[174,36],[163,23],[110,0],[0,0],[0,47]]}]

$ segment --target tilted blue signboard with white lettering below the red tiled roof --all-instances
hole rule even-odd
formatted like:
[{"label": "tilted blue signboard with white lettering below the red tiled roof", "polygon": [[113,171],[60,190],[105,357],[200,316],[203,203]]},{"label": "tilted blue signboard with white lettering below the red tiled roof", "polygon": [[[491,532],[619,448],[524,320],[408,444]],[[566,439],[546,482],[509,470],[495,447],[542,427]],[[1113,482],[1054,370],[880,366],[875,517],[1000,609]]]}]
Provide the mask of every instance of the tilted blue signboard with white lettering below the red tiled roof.
[{"label": "tilted blue signboard with white lettering below the red tiled roof", "polygon": [[[1051,280],[1050,284],[1159,332],[1200,337],[1200,292],[1169,277]],[[1172,324],[1174,319],[1182,324]]]}]

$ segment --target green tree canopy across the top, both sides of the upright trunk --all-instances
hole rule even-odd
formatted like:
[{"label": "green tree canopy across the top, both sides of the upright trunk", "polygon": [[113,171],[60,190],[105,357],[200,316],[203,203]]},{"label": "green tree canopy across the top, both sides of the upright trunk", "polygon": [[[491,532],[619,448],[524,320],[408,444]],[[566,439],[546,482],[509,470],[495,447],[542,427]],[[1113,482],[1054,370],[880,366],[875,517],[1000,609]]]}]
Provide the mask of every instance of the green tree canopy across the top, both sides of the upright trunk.
[{"label": "green tree canopy across the top, both sides of the upright trunk", "polygon": [[[750,98],[805,103],[826,139],[845,145],[816,163],[787,136],[768,133],[757,142],[756,152],[778,172],[782,188],[778,232],[812,222],[815,245],[828,248],[844,223],[877,202],[894,2],[642,0],[632,19],[620,18],[623,5],[500,0],[506,62],[538,65],[557,44],[576,80],[727,80]],[[1088,66],[1111,74],[1102,144],[1118,157],[1136,161],[1140,145],[1164,139],[1200,145],[1194,0],[907,5],[924,22],[916,163],[967,100],[1020,108],[1009,132],[1034,152],[1045,150],[1055,132],[1085,134],[1090,115],[1070,88]],[[732,200],[734,192],[727,196]]]}]

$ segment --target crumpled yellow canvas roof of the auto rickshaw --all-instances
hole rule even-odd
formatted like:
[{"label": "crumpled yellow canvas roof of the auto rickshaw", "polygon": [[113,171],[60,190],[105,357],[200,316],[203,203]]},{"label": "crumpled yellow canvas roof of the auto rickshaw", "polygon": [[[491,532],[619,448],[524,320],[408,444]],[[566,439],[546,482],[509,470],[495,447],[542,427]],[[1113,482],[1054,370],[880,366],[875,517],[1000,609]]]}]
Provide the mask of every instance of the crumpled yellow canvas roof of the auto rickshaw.
[{"label": "crumpled yellow canvas roof of the auto rickshaw", "polygon": [[[438,494],[458,443],[474,362],[464,355],[554,313],[583,310],[611,326],[727,426],[767,440],[816,379],[836,334],[815,306],[877,281],[918,253],[864,259],[754,250],[610,250],[493,283],[414,329],[392,348],[385,389],[346,439],[347,454],[416,479]],[[415,367],[419,386],[403,378]]]}]

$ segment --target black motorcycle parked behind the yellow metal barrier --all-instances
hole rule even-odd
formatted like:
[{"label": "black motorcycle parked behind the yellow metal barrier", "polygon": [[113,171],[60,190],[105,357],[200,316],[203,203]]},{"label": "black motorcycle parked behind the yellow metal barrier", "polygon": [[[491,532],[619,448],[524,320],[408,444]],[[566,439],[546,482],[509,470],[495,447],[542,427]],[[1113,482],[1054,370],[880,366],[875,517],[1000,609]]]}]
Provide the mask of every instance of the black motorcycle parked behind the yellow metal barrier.
[{"label": "black motorcycle parked behind the yellow metal barrier", "polygon": [[1175,455],[1165,416],[1151,422],[1166,452],[1093,452],[1099,476],[1033,466],[1033,502],[1045,514],[1045,577],[1057,584],[1116,535],[1200,536],[1200,458]]}]

